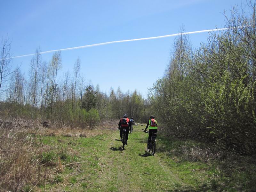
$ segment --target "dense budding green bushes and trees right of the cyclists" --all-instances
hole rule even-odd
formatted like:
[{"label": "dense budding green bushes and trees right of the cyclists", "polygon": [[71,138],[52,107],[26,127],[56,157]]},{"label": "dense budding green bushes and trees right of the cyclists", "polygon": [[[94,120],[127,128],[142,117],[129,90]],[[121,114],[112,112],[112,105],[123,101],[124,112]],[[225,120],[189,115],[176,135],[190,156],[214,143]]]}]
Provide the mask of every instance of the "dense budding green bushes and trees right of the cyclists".
[{"label": "dense budding green bushes and trees right of the cyclists", "polygon": [[211,33],[196,50],[188,35],[174,40],[165,75],[149,90],[167,135],[255,153],[255,3],[246,8],[249,14],[234,8],[225,16],[228,29]]}]

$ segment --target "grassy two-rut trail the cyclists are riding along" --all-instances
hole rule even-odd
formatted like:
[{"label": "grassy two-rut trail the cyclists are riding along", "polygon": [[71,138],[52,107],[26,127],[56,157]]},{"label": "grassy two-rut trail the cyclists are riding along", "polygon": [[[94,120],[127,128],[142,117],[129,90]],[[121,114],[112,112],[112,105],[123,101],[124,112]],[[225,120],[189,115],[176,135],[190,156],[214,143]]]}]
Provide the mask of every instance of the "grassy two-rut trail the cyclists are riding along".
[{"label": "grassy two-rut trail the cyclists are riding along", "polygon": [[[109,191],[193,191],[195,188],[173,173],[157,155],[146,152],[147,134],[134,127],[128,145],[122,150],[119,132],[112,132],[101,157],[104,165],[98,182]],[[110,187],[112,186],[112,187]]]}]

